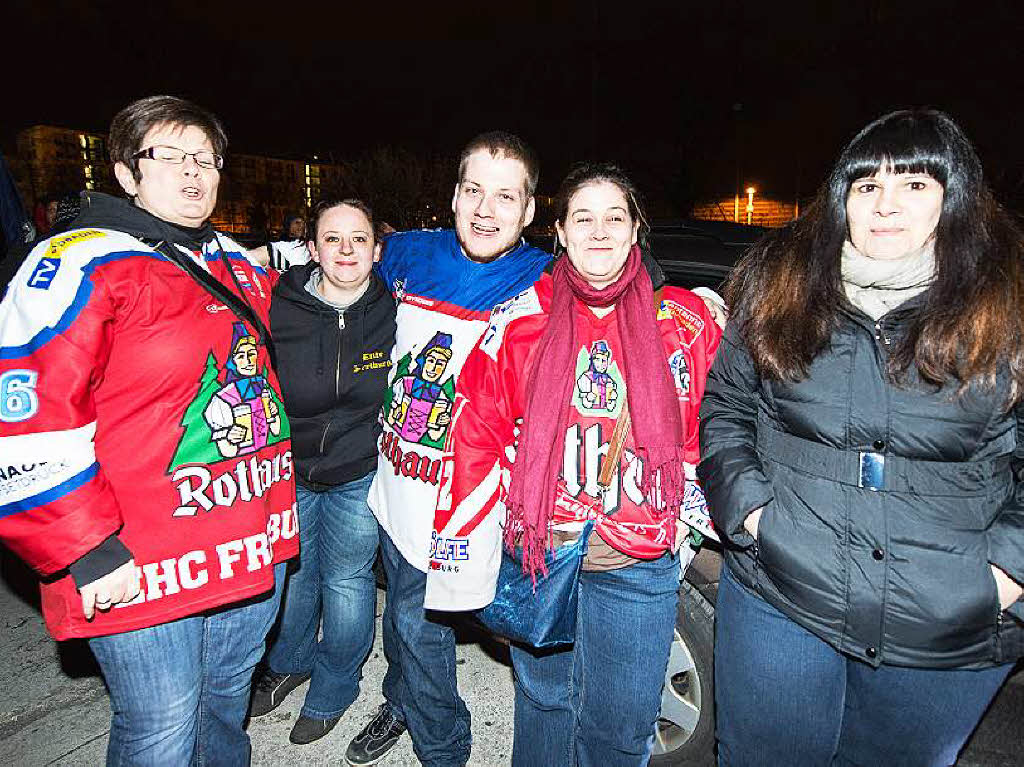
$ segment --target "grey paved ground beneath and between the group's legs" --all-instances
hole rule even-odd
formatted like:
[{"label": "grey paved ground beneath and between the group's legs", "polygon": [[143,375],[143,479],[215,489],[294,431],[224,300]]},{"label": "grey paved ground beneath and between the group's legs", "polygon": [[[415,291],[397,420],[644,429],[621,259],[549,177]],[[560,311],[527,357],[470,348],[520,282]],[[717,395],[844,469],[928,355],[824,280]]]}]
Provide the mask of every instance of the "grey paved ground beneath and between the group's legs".
[{"label": "grey paved ground beneath and between the group's legs", "polygon": [[[6,561],[3,561],[6,560]],[[34,606],[34,591],[10,557],[0,553],[0,765],[102,765],[110,725],[106,691],[88,648],[55,645]],[[380,600],[379,600],[380,602]],[[378,612],[380,603],[378,604]],[[378,624],[379,628],[379,624]],[[459,645],[459,683],[473,714],[474,767],[504,767],[512,744],[512,682],[502,646],[467,637]],[[380,638],[364,669],[362,692],[327,737],[310,745],[288,742],[304,687],[278,711],[250,726],[253,764],[339,765],[349,739],[380,702],[384,674]],[[415,767],[408,736],[382,767]],[[983,720],[957,767],[1024,765],[1024,673],[1018,673]]]}]

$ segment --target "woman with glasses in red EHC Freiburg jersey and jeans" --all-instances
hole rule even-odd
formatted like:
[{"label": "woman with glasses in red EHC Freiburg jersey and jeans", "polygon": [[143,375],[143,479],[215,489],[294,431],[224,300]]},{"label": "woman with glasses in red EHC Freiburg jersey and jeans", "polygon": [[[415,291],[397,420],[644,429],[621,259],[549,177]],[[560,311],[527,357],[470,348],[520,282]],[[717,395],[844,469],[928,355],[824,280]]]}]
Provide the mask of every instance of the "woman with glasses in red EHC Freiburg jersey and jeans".
[{"label": "woman with glasses in red EHC Freiburg jersey and jeans", "polygon": [[298,548],[270,281],[209,222],[226,143],[188,101],[126,106],[127,199],[85,195],[0,304],[0,464],[22,469],[0,539],[44,578],[53,637],[99,662],[108,765],[249,763],[252,673]]}]

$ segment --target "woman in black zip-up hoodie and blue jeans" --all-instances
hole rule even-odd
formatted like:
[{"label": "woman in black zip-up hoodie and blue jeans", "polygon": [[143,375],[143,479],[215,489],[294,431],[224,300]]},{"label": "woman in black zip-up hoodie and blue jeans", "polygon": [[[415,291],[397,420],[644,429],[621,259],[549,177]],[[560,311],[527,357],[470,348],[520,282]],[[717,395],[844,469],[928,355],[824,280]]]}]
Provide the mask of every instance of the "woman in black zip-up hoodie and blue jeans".
[{"label": "woman in black zip-up hoodie and blue jeans", "polygon": [[317,204],[309,238],[312,262],[282,275],[270,307],[302,550],[250,709],[254,717],[273,711],[311,676],[294,743],[321,738],[338,723],[358,694],[373,644],[379,537],[367,495],[395,315],[394,299],[373,269],[381,246],[369,206]]}]

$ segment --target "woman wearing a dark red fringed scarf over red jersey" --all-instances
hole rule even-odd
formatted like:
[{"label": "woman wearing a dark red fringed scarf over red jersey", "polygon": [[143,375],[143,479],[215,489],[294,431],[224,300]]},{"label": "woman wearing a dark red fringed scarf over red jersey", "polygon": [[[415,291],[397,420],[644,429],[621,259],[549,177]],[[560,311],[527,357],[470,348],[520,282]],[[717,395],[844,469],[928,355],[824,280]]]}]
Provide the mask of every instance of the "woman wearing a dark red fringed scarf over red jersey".
[{"label": "woman wearing a dark red fringed scarf over red jersey", "polygon": [[[679,521],[687,465],[699,458],[696,413],[721,330],[689,291],[655,298],[640,254],[646,222],[622,171],[578,167],[557,205],[556,257],[564,257],[495,309],[459,381],[435,542],[468,536],[466,560],[432,564],[431,578],[447,580],[433,594],[428,587],[428,606],[447,599],[450,609],[468,609],[493,598],[496,558],[483,556],[489,569],[480,571],[488,536],[474,531],[490,509],[500,512],[506,483],[496,477],[509,470],[504,541],[522,547],[525,567],[538,570],[545,550],[594,520],[574,644],[512,647],[512,763],[635,767],[653,742],[688,531]],[[598,374],[604,396],[594,393]],[[628,431],[602,491],[616,423]]]}]

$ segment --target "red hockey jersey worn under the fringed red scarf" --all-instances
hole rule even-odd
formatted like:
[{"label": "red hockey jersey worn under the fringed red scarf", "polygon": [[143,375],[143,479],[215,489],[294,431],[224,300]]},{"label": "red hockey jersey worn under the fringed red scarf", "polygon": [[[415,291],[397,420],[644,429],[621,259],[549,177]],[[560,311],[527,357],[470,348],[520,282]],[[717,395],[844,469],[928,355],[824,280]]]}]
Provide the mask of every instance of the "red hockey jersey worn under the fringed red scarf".
[{"label": "red hockey jersey worn under the fringed red scarf", "polygon": [[[516,424],[525,409],[527,371],[547,327],[551,290],[551,279],[545,275],[496,307],[463,368],[434,518],[429,608],[476,609],[494,598]],[[569,423],[553,523],[571,530],[595,519],[595,534],[614,549],[654,558],[675,544],[675,522],[655,519],[640,493],[642,466],[632,434],[603,496],[597,484],[611,431],[627,401],[616,313],[597,317],[583,304],[578,304],[578,312],[580,349],[572,397],[566,403]],[[664,291],[657,326],[682,415],[685,461],[695,465],[697,411],[721,330],[697,296],[675,288]]]}]

